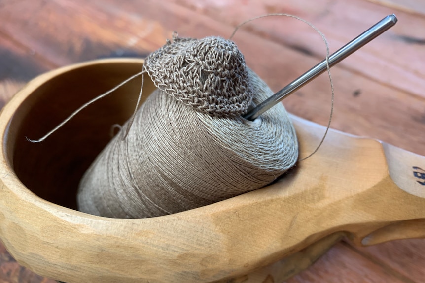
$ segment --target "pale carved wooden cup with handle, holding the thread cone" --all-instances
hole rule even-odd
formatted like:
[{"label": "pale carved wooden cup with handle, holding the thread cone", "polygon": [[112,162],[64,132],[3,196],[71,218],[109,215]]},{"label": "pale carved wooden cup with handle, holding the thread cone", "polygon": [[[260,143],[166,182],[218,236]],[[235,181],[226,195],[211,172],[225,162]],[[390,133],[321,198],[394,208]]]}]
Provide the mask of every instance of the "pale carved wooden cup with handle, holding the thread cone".
[{"label": "pale carved wooden cup with handle, holding the thread cone", "polygon": [[[142,63],[99,60],[46,73],[2,110],[0,237],[22,265],[69,283],[279,282],[342,236],[359,245],[425,236],[425,158],[334,130],[274,184],[226,201],[150,219],[76,211],[79,179],[111,125],[130,117],[140,81],[42,143],[26,137],[41,137]],[[146,80],[144,94],[153,90]],[[302,157],[323,127],[292,118]]]}]

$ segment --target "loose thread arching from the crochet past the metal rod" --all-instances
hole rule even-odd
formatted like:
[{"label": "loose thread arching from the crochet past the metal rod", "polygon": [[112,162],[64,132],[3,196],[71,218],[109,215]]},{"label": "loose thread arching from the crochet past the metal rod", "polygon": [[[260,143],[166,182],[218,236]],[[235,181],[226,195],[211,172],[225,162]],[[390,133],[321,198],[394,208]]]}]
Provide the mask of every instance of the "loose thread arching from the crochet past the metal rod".
[{"label": "loose thread arching from the crochet past the metal rod", "polygon": [[261,16],[257,16],[257,17],[254,17],[254,18],[248,19],[248,20],[246,20],[246,21],[242,22],[241,24],[239,24],[238,26],[236,26],[235,30],[234,30],[234,31],[233,31],[233,33],[230,35],[230,38],[229,38],[229,39],[232,39],[232,38],[233,38],[233,36],[235,35],[236,31],[238,31],[238,30],[239,30],[239,28],[241,28],[243,25],[245,25],[245,24],[247,24],[247,23],[249,23],[249,22],[251,22],[251,21],[254,21],[254,20],[260,19],[260,18],[266,18],[266,17],[271,17],[271,16],[285,16],[285,17],[290,17],[290,18],[294,18],[294,19],[296,19],[296,20],[299,20],[299,21],[301,21],[301,22],[303,22],[303,23],[305,23],[305,24],[309,25],[312,29],[314,29],[317,33],[319,33],[319,35],[321,36],[321,38],[322,38],[322,40],[323,40],[324,44],[326,45],[326,68],[327,68],[327,73],[328,73],[328,76],[329,76],[330,87],[331,87],[331,92],[332,92],[332,96],[331,96],[331,110],[330,110],[329,120],[328,120],[328,124],[327,124],[326,130],[325,130],[325,132],[324,132],[324,134],[323,134],[322,139],[321,139],[321,140],[320,140],[320,142],[319,142],[319,145],[318,145],[318,146],[316,147],[316,149],[315,149],[315,150],[314,150],[311,154],[309,154],[307,157],[304,157],[304,158],[298,159],[298,161],[303,161],[303,160],[306,160],[306,159],[308,159],[308,158],[312,157],[312,156],[313,156],[313,155],[314,155],[314,154],[315,154],[315,153],[319,150],[319,148],[320,148],[320,146],[322,145],[322,143],[323,143],[324,139],[326,138],[326,135],[327,135],[327,133],[328,133],[328,131],[329,131],[330,124],[331,124],[331,121],[332,121],[332,116],[333,116],[333,107],[334,107],[334,98],[335,98],[335,91],[334,91],[334,87],[333,87],[332,76],[331,76],[331,74],[330,74],[330,66],[329,66],[329,43],[327,42],[327,39],[326,39],[326,37],[324,36],[323,32],[319,31],[319,29],[318,29],[318,28],[316,28],[316,26],[315,26],[315,25],[313,25],[313,24],[312,24],[312,23],[310,23],[309,21],[306,21],[306,20],[304,20],[304,19],[302,19],[302,18],[300,18],[300,17],[298,17],[298,16],[294,16],[294,15],[291,15],[291,14],[285,14],[285,13],[272,13],[272,14],[261,15]]}]

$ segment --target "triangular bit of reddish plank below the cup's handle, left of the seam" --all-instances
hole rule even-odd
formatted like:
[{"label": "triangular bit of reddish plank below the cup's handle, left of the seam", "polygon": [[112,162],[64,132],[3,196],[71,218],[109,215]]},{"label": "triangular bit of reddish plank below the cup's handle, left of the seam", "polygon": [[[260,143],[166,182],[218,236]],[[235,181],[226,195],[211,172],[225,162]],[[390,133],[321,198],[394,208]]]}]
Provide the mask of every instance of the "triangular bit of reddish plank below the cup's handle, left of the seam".
[{"label": "triangular bit of reddish plank below the cup's handle, left of the seam", "polygon": [[286,283],[316,282],[414,283],[382,265],[365,260],[343,243],[335,245],[309,269],[286,281]]}]

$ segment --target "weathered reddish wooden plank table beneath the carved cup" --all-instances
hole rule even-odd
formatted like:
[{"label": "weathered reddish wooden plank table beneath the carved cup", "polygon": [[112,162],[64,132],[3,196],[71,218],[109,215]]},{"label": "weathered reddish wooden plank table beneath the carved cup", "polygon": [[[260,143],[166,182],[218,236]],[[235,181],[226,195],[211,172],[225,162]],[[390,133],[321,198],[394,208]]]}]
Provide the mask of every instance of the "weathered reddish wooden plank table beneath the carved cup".
[{"label": "weathered reddish wooden plank table beneath the carved cup", "polygon": [[[145,57],[172,31],[229,37],[243,20],[275,12],[313,22],[327,36],[331,52],[395,13],[394,28],[332,68],[332,127],[425,155],[422,0],[0,0],[1,106],[44,71],[104,57]],[[325,55],[315,31],[283,17],[257,20],[234,40],[248,65],[275,91]],[[326,125],[330,98],[328,78],[322,75],[284,104],[291,113]],[[425,282],[424,253],[423,239],[366,248],[341,242],[287,282]],[[0,245],[0,282],[55,281],[20,266]]]}]

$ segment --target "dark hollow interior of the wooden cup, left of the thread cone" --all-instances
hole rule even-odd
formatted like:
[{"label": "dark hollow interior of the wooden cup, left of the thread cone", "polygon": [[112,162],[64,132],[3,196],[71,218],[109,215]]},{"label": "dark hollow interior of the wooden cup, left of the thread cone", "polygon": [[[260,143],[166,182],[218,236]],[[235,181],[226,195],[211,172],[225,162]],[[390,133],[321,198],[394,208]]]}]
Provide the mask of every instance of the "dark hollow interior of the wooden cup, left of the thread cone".
[{"label": "dark hollow interior of the wooden cup, left of the thread cone", "polygon": [[[40,138],[78,107],[141,70],[141,60],[100,61],[30,82],[18,94],[28,96],[4,137],[7,161],[22,183],[45,200],[76,209],[79,180],[111,139],[113,125],[132,115],[141,77],[91,104],[45,141],[31,143],[26,137]],[[143,96],[154,89],[145,75]]]}]

